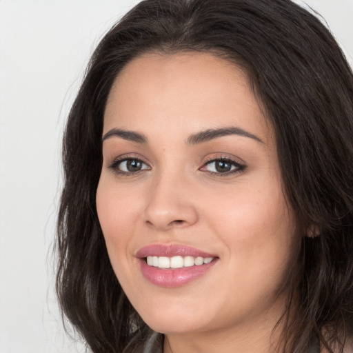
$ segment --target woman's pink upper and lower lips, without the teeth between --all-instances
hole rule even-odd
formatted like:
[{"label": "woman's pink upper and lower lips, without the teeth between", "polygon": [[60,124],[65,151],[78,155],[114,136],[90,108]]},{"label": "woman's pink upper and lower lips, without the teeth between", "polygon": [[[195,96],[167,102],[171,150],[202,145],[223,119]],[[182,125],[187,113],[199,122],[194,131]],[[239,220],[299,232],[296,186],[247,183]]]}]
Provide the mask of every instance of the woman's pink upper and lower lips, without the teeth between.
[{"label": "woman's pink upper and lower lips, without the teeth between", "polygon": [[[141,248],[136,256],[139,259],[141,272],[145,276],[145,279],[154,285],[169,288],[179,287],[195,279],[199,279],[218,260],[218,257],[214,254],[208,254],[186,245],[152,244]],[[203,258],[214,257],[214,260],[207,264],[204,263],[203,265],[194,265],[186,268],[161,269],[148,265],[145,261],[147,256],[201,256]]]}]

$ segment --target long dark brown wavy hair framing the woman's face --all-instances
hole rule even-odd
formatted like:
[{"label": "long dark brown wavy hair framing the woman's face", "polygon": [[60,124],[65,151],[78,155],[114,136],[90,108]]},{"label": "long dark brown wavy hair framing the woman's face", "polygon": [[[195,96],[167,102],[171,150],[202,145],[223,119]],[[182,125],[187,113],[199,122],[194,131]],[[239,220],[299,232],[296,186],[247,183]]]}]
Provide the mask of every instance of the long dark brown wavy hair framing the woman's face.
[{"label": "long dark brown wavy hair framing the woman's face", "polygon": [[[288,283],[299,304],[293,310],[290,298],[282,319],[285,351],[304,352],[316,334],[329,352],[343,352],[353,327],[353,74],[319,19],[289,0],[145,0],[99,43],[63,139],[63,314],[93,352],[133,352],[151,334],[114,275],[97,217],[103,113],[124,65],[145,52],[180,50],[241,66],[274,127],[302,230]],[[309,228],[316,236],[305,236]]]}]

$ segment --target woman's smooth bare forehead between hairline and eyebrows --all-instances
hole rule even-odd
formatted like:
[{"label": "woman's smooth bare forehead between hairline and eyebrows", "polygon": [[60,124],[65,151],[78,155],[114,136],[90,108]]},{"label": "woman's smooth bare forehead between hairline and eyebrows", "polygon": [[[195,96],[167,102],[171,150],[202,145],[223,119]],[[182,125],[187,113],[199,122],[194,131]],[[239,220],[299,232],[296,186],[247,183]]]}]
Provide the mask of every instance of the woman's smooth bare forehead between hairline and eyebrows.
[{"label": "woman's smooth bare forehead between hairline and eyebrows", "polygon": [[268,141],[272,129],[241,68],[210,53],[144,54],[112,85],[104,132],[153,127],[193,130],[236,125]]}]

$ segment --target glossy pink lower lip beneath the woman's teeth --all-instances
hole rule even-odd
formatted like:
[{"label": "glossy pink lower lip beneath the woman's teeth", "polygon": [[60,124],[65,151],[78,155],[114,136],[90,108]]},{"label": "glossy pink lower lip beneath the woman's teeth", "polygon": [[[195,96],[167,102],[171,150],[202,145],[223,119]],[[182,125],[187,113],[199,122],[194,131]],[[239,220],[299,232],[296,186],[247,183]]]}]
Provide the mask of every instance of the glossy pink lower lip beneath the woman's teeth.
[{"label": "glossy pink lower lip beneath the woman's teeth", "polygon": [[141,271],[145,279],[154,285],[159,285],[159,287],[169,288],[181,287],[181,285],[199,279],[203,274],[208,272],[216,262],[217,259],[214,259],[210,263],[194,265],[190,266],[190,268],[161,269],[150,266],[144,259],[140,259]]}]

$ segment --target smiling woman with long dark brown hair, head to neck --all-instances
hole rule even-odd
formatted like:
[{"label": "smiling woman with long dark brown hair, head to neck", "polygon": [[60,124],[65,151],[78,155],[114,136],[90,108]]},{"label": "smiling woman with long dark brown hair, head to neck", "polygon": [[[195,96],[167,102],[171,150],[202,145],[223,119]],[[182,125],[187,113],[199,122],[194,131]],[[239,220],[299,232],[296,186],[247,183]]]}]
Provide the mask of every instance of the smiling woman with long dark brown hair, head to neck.
[{"label": "smiling woman with long dark brown hair, head to neck", "polygon": [[283,0],[146,0],[63,143],[63,313],[93,352],[352,352],[353,75]]}]

